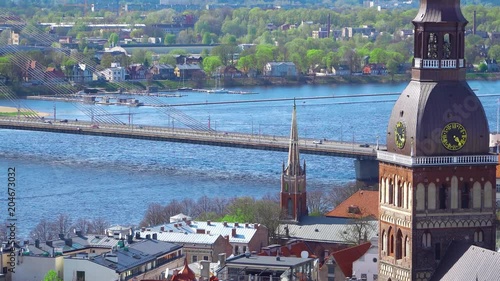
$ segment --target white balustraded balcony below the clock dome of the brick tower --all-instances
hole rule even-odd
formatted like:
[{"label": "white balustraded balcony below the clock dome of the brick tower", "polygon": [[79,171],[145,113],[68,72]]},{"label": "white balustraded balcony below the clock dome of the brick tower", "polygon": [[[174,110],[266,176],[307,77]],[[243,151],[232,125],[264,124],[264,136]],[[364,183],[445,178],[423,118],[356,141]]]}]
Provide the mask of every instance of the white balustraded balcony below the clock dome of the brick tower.
[{"label": "white balustraded balcony below the clock dome of the brick tower", "polygon": [[464,156],[419,156],[411,157],[378,151],[377,160],[400,164],[407,167],[422,167],[436,165],[470,165],[470,164],[498,164],[498,155],[464,155]]}]

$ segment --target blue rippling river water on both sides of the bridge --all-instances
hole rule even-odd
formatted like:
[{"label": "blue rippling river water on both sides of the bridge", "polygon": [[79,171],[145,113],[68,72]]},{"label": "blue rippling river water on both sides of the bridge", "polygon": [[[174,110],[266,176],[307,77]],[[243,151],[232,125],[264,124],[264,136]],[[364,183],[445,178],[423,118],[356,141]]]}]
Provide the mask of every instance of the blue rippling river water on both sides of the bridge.
[{"label": "blue rippling river water on both sides of the bridge", "polygon": [[[500,81],[470,81],[485,107],[490,129],[497,126]],[[255,95],[186,93],[159,98],[167,104],[300,97],[297,121],[302,137],[375,143],[385,136],[396,95],[407,83],[250,88]],[[235,89],[240,90],[240,89]],[[344,96],[344,97],[342,97]],[[349,97],[345,97],[349,96]],[[147,101],[144,97],[137,97]],[[0,106],[20,105],[57,118],[90,120],[66,102],[0,100]],[[288,136],[293,101],[176,107],[201,126],[217,131]],[[96,106],[97,107],[97,106]],[[158,108],[98,106],[109,116],[134,125],[181,127]],[[131,115],[129,115],[131,113]],[[47,117],[51,118],[51,117]],[[104,117],[103,117],[104,118]],[[210,122],[209,122],[210,120]],[[0,130],[0,220],[7,218],[7,169],[16,169],[18,237],[27,236],[42,219],[67,213],[73,220],[104,217],[111,223],[138,224],[149,203],[172,199],[224,196],[262,197],[278,192],[284,152]],[[384,138],[380,138],[385,143]],[[353,160],[302,155],[307,161],[308,189],[328,189],[354,180]]]}]

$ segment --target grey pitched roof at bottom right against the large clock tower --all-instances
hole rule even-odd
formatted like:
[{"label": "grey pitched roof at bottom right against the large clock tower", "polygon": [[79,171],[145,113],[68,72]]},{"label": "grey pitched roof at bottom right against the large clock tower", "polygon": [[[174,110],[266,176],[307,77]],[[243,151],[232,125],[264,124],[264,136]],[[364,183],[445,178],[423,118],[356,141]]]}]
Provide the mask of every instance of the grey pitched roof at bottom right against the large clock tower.
[{"label": "grey pitched roof at bottom right against the large clock tower", "polygon": [[430,280],[500,280],[499,268],[500,253],[453,241]]}]

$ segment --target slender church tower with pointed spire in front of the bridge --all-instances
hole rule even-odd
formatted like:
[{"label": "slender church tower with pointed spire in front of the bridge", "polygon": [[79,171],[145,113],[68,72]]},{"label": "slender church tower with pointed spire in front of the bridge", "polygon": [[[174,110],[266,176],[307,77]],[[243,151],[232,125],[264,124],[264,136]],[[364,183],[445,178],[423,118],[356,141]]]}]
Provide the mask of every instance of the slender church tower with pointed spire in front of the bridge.
[{"label": "slender church tower with pointed spire in front of the bridge", "polygon": [[281,173],[280,206],[285,219],[299,221],[306,216],[306,162],[304,168],[300,166],[299,134],[297,130],[297,114],[293,103],[292,128],[290,130],[290,147],[288,150],[288,164]]}]

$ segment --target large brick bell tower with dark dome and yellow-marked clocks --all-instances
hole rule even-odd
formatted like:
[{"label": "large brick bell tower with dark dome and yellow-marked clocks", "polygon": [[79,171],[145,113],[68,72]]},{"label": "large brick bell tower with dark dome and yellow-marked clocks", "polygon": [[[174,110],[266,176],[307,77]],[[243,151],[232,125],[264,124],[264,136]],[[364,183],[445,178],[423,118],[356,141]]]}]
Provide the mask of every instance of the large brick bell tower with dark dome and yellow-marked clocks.
[{"label": "large brick bell tower with dark dome and yellow-marked clocks", "polygon": [[451,241],[495,248],[495,165],[465,81],[460,0],[421,0],[412,79],[379,160],[378,280],[429,280]]}]

